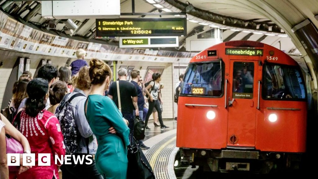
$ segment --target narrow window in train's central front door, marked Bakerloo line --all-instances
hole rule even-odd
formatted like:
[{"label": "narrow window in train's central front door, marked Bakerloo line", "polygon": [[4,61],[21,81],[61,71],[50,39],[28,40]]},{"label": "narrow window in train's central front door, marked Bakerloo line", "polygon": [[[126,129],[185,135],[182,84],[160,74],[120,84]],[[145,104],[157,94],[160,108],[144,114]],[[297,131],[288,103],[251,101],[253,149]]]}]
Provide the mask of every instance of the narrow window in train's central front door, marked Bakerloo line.
[{"label": "narrow window in train's central front door, marked Bakerloo line", "polygon": [[254,62],[233,63],[233,98],[253,98]]}]

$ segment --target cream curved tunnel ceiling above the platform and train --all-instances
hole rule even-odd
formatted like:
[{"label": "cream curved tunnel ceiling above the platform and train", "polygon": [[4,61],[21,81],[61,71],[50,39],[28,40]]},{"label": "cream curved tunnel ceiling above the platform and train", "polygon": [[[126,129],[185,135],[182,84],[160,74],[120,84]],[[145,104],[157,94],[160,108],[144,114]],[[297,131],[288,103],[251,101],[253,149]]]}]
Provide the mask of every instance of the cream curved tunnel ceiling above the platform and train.
[{"label": "cream curved tunnel ceiling above the platform and train", "polygon": [[[180,5],[187,5],[186,0],[155,0],[158,4],[171,3],[169,4],[172,9],[178,10]],[[195,8],[201,11],[206,11],[214,16],[224,16],[228,17],[230,21],[234,22],[233,27],[236,23],[243,22],[250,24],[259,25],[259,30],[269,30],[268,27],[273,25],[273,30],[276,32],[285,32],[293,43],[291,43],[289,38],[281,38],[276,36],[264,36],[264,34],[246,34],[244,32],[234,32],[231,30],[225,30],[223,33],[224,40],[255,40],[260,41],[274,47],[279,48],[281,46],[282,50],[287,53],[295,53],[306,56],[306,51],[301,45],[301,42],[296,38],[294,33],[291,31],[294,25],[302,22],[303,20],[309,18],[313,24],[317,27],[318,21],[315,19],[315,15],[318,14],[318,0],[190,0]],[[158,12],[160,8],[156,8],[152,4],[149,4],[146,0],[135,0],[135,11],[136,12]],[[174,4],[175,6],[173,6]],[[41,8],[39,6],[39,1],[17,1],[12,2],[10,0],[0,0],[0,6],[3,11],[6,11],[15,18],[21,18],[28,23],[37,25],[39,27],[45,28],[47,25],[47,19],[41,17]],[[179,10],[181,11],[181,10]],[[131,12],[131,0],[121,0],[121,12]],[[204,14],[209,15],[210,14]],[[129,16],[125,16],[129,17]],[[136,18],[136,16],[130,16]],[[147,18],[158,16],[146,16]],[[173,16],[164,16],[173,17]],[[224,18],[223,17],[223,18]],[[232,19],[231,19],[232,18]],[[220,22],[219,17],[217,22]],[[234,19],[234,20],[233,20]],[[235,20],[236,19],[236,20]],[[85,38],[87,40],[94,38],[95,31],[95,19],[72,19],[79,28],[75,30],[72,34],[73,37]],[[64,33],[63,27],[65,24],[63,20],[56,20],[57,27],[52,29],[55,33]],[[212,22],[212,21],[211,21]],[[225,21],[227,22],[227,21]],[[275,29],[277,25],[278,28]],[[247,25],[247,27],[249,27]],[[262,29],[264,27],[265,29]],[[203,26],[196,23],[187,23],[188,36],[194,35],[197,29],[208,30],[209,26]],[[283,30],[280,30],[280,28]],[[116,39],[107,40],[108,43],[116,42]],[[180,46],[184,46],[185,37],[180,38]],[[299,51],[298,51],[298,50]],[[176,49],[173,49],[176,50]],[[184,50],[181,49],[181,50]],[[308,62],[310,60],[307,59]]]}]

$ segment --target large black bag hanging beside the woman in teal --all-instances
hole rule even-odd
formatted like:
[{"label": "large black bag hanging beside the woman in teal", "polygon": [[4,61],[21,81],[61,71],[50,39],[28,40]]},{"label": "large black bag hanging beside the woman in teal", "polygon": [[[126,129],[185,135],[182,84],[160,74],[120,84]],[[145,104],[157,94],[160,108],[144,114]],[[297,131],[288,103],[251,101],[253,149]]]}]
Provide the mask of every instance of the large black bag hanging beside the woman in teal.
[{"label": "large black bag hanging beside the woman in teal", "polygon": [[138,142],[135,140],[132,133],[130,133],[131,143],[135,145],[128,146],[128,179],[155,179],[154,172],[143,154],[142,149],[139,147]]}]

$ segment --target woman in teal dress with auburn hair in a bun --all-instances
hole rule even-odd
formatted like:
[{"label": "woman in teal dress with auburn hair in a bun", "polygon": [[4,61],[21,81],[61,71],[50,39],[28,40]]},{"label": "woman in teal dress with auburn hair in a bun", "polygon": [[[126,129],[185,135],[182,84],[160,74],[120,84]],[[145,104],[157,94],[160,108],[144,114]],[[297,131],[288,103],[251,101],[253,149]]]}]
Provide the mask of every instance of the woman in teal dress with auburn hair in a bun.
[{"label": "woman in teal dress with auburn hair in a bun", "polygon": [[[113,100],[103,96],[112,72],[106,63],[98,59],[92,59],[89,65],[92,91],[85,109],[86,118],[98,142],[96,167],[105,179],[126,179],[129,128]],[[112,126],[116,134],[107,131]]]}]

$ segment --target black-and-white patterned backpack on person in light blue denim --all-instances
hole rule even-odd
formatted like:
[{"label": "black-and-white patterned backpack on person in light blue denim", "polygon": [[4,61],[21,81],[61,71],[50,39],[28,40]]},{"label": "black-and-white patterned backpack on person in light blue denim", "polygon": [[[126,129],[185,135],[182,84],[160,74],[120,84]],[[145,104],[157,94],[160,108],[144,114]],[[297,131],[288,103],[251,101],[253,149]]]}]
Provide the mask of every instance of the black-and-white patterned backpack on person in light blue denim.
[{"label": "black-and-white patterned backpack on person in light blue denim", "polygon": [[[69,93],[70,94],[70,93]],[[68,94],[68,95],[69,95]],[[75,97],[85,96],[81,93],[74,94],[69,100],[65,100],[68,95],[64,97],[62,102],[56,108],[55,116],[59,119],[61,131],[64,137],[64,144],[66,147],[66,154],[73,154],[79,145],[80,133],[75,123],[74,113],[75,109],[71,105],[71,101]]]}]

